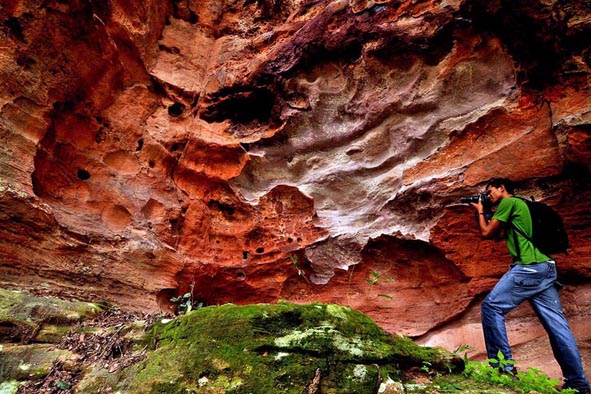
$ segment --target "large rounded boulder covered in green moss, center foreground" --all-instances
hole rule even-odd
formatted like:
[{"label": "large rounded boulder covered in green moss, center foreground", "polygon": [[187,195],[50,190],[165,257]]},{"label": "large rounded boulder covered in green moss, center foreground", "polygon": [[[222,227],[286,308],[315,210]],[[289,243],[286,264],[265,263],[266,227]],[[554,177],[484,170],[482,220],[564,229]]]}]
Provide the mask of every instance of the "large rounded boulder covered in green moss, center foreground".
[{"label": "large rounded boulder covered in green moss, center foreground", "polygon": [[[326,304],[224,305],[157,323],[147,358],[117,387],[133,393],[371,393],[401,370],[463,368],[442,349],[390,335],[366,315]],[[97,388],[100,382],[95,381]]]}]

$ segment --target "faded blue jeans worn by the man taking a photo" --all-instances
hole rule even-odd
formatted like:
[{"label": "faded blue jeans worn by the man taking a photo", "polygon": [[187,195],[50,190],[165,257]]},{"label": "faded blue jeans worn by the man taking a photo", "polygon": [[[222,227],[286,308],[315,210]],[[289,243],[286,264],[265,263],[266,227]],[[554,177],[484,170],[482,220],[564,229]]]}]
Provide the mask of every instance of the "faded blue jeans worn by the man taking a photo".
[{"label": "faded blue jeans worn by the man taking a photo", "polygon": [[498,359],[500,350],[512,360],[505,315],[527,300],[550,338],[552,352],[565,379],[565,387],[589,389],[581,355],[562,311],[553,261],[512,265],[482,302],[482,329],[488,358]]}]

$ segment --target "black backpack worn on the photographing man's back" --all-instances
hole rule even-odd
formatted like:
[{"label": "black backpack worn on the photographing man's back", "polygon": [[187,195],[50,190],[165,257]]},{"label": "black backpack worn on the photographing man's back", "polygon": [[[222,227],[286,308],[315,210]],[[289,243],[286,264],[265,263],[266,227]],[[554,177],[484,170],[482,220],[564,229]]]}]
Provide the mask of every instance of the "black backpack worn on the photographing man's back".
[{"label": "black backpack worn on the photographing man's back", "polygon": [[[567,249],[570,247],[570,244],[560,215],[550,206],[535,201],[533,197],[531,200],[526,200],[521,197],[518,198],[525,201],[529,208],[532,220],[532,237],[527,236],[527,234],[512,224],[513,229],[524,236],[545,255],[555,253],[568,254]],[[517,254],[519,255],[519,244],[515,242],[515,245],[517,248]]]}]

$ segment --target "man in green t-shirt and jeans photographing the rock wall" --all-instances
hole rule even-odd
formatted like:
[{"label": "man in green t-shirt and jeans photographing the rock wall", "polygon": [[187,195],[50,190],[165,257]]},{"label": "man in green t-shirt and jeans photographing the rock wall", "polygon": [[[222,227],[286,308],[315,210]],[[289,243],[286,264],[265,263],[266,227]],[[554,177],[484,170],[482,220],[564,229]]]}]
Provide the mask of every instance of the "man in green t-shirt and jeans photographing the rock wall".
[{"label": "man in green t-shirt and jeans photographing the rock wall", "polygon": [[[554,357],[565,379],[563,388],[590,393],[579,349],[562,311],[556,264],[513,229],[513,226],[517,226],[531,238],[532,220],[527,204],[513,196],[513,184],[504,178],[491,179],[486,194],[492,204],[497,206],[490,221],[484,214],[481,199],[478,203],[472,203],[482,237],[494,238],[503,230],[513,258],[509,272],[503,275],[482,302],[482,329],[488,358],[498,359],[498,352],[501,351],[505,360],[512,360],[505,315],[527,300],[548,333]],[[516,370],[513,365],[506,365],[503,372],[515,374]]]}]

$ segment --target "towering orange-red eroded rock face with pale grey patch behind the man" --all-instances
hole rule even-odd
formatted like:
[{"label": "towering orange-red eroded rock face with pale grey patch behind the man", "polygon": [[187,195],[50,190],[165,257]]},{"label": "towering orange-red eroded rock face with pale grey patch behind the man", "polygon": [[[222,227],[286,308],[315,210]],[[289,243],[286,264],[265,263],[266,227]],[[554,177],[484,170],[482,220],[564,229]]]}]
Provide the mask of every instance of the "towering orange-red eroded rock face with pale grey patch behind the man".
[{"label": "towering orange-red eroded rock face with pale grey patch behind the man", "polygon": [[[459,198],[505,176],[563,215],[589,341],[590,21],[566,1],[4,2],[0,285],[335,302],[482,351],[509,258]],[[508,321],[557,375],[535,316]]]}]

